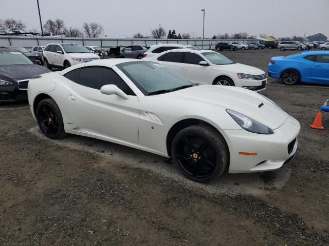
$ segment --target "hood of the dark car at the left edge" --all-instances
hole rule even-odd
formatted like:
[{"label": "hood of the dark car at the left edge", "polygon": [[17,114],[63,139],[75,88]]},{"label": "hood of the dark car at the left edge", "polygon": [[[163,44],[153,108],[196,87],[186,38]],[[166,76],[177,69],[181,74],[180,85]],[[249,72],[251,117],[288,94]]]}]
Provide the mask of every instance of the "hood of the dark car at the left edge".
[{"label": "hood of the dark car at the left edge", "polygon": [[0,77],[12,78],[12,79],[28,79],[34,75],[40,75],[43,73],[51,72],[49,69],[40,65],[10,65],[0,66]]}]

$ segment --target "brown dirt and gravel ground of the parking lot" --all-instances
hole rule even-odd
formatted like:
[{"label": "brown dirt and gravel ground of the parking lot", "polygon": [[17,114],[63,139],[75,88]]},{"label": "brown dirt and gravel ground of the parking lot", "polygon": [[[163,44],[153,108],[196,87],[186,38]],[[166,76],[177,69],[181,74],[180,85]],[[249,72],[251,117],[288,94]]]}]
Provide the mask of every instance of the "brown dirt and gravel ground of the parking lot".
[{"label": "brown dirt and gravel ground of the parking lot", "polygon": [[[279,50],[223,52],[266,71]],[[329,87],[262,94],[301,125],[288,168],[200,185],[170,160],[101,140],[40,134],[27,103],[0,106],[1,245],[329,245]]]}]

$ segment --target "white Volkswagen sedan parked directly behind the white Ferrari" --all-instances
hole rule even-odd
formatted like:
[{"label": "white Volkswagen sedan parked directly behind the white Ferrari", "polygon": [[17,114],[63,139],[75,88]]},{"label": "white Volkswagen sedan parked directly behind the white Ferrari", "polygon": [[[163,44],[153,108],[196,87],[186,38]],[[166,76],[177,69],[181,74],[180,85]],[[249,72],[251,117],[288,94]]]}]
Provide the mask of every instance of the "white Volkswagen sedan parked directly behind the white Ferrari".
[{"label": "white Volkswagen sedan parked directly behind the white Ferrari", "polygon": [[196,84],[236,86],[254,91],[266,89],[267,78],[263,70],[234,63],[211,50],[175,49],[147,60],[165,65]]}]

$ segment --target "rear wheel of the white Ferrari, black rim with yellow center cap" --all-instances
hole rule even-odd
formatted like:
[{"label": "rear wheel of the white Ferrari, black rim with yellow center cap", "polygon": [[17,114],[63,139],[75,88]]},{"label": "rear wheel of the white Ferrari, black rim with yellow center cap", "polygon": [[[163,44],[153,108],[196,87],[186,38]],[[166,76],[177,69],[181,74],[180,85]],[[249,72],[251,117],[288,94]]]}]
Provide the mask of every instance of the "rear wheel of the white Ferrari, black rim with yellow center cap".
[{"label": "rear wheel of the white Ferrari, black rim with yellow center cap", "polygon": [[35,117],[40,130],[46,137],[60,139],[67,135],[64,131],[61,111],[52,98],[40,101],[36,107]]}]

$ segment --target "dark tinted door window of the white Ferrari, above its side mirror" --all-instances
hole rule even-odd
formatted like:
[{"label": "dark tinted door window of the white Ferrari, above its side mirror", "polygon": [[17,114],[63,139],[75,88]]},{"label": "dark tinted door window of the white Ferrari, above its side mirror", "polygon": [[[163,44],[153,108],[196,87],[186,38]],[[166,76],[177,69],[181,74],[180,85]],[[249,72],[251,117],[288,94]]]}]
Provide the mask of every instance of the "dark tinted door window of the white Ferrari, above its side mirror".
[{"label": "dark tinted door window of the white Ferrari, above its side mirror", "polygon": [[127,95],[135,96],[122,78],[112,69],[104,67],[87,67],[81,69],[79,84],[96,90],[105,85],[116,85]]}]

